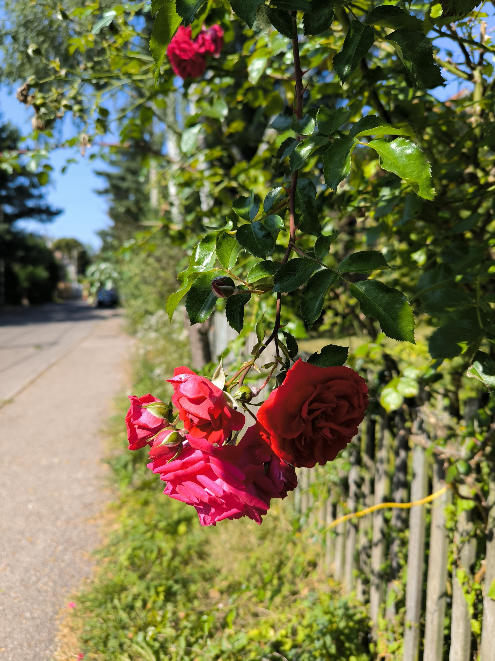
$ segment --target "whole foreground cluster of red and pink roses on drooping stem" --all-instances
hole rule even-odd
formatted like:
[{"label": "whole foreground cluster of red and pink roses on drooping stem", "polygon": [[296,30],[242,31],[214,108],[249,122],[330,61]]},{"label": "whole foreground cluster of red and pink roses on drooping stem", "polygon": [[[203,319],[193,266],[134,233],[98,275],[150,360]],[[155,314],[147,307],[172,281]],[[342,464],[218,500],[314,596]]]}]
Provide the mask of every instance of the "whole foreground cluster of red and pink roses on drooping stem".
[{"label": "whole foreground cluster of red and pink roses on drooping stem", "polygon": [[[242,516],[261,524],[271,498],[296,488],[294,467],[333,461],[368,406],[366,383],[353,369],[298,360],[234,444],[233,432],[246,418],[230,395],[185,367],[169,381],[171,405],[152,395],[129,397],[129,449],[150,446],[148,467],[166,482],[164,493],[193,505],[202,525]],[[176,429],[177,420],[183,429]]]}]

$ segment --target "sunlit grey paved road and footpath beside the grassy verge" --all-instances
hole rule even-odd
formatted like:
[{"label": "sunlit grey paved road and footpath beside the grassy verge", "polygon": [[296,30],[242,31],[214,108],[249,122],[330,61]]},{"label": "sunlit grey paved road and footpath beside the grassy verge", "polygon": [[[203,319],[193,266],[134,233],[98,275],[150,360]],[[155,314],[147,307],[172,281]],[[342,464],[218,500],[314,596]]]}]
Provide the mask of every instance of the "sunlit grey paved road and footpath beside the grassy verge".
[{"label": "sunlit grey paved road and footpath beside the grassy verge", "polygon": [[0,661],[49,659],[57,613],[90,572],[89,520],[108,498],[98,431],[127,345],[115,311],[0,315]]}]

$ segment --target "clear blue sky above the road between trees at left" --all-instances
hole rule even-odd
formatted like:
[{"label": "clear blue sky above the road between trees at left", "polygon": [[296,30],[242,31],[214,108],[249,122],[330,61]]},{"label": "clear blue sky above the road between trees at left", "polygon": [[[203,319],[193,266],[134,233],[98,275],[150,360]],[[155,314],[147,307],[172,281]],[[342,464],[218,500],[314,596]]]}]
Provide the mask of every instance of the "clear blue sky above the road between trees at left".
[{"label": "clear blue sky above the road between trees at left", "polygon": [[[9,95],[7,89],[0,89],[0,112],[1,120],[15,124],[22,134],[26,135],[32,130],[32,109],[26,108],[15,98],[15,91]],[[100,159],[89,161],[90,153],[91,150],[86,151],[86,157],[82,157],[77,149],[53,150],[49,161],[53,172],[51,184],[45,188],[46,198],[51,206],[62,209],[63,212],[46,225],[34,221],[21,222],[18,225],[53,239],[74,237],[81,243],[98,249],[100,239],[96,231],[108,227],[110,220],[106,213],[108,204],[105,198],[94,192],[95,189],[104,187],[105,180],[96,176],[93,171],[107,169],[107,166]],[[62,175],[61,169],[69,158],[75,158],[78,162],[69,165]]]}]

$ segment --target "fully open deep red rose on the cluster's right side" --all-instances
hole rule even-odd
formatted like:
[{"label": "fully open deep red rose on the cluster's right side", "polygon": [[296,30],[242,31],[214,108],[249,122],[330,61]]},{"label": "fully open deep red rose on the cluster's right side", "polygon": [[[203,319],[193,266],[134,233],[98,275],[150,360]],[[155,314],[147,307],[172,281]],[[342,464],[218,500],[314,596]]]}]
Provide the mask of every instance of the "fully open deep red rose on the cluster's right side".
[{"label": "fully open deep red rose on the cluster's right side", "polygon": [[333,461],[358,433],[368,388],[354,369],[299,359],[261,405],[261,436],[283,461],[312,468]]}]

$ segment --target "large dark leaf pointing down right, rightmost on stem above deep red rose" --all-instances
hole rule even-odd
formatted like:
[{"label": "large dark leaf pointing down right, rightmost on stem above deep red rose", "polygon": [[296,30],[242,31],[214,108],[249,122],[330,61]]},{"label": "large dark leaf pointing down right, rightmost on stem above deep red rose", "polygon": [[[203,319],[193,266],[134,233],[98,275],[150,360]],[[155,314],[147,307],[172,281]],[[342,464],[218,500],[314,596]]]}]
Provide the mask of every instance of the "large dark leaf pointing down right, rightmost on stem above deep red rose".
[{"label": "large dark leaf pointing down right, rightmost on stem above deep red rose", "polygon": [[358,299],[362,313],[376,319],[387,337],[416,344],[413,311],[402,292],[378,280],[354,282],[349,291]]}]

